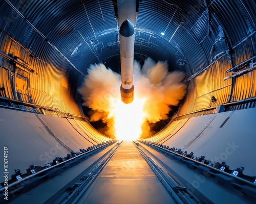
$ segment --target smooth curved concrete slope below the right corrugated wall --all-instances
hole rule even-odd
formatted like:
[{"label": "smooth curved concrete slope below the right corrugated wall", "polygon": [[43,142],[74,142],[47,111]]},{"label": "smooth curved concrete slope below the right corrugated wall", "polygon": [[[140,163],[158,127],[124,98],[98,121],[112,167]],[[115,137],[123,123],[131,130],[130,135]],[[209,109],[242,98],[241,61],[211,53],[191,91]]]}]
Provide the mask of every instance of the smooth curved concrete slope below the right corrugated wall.
[{"label": "smooth curved concrete slope below the right corrugated wall", "polygon": [[[179,125],[177,122],[170,123],[162,137],[148,140],[193,151],[195,156],[204,155],[208,160],[225,161],[230,169],[243,166],[245,174],[256,175],[256,108],[183,119]],[[169,129],[172,132],[168,133]]]}]

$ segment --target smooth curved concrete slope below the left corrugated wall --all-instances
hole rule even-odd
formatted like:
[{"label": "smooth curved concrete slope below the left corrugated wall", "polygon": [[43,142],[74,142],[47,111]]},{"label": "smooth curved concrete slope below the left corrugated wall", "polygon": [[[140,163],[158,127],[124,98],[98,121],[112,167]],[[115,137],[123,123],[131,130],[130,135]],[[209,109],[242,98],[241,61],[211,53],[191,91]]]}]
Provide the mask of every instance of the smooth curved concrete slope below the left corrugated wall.
[{"label": "smooth curved concrete slope below the left corrugated wall", "polygon": [[[83,124],[86,126],[86,122]],[[79,151],[97,144],[96,141],[109,140],[102,135],[95,140],[90,132],[86,135],[78,129],[66,118],[0,108],[0,162],[4,164],[4,146],[7,146],[10,178],[14,169],[25,173],[31,164],[44,165],[57,156],[66,157],[70,150]],[[0,177],[0,182],[3,180]]]}]

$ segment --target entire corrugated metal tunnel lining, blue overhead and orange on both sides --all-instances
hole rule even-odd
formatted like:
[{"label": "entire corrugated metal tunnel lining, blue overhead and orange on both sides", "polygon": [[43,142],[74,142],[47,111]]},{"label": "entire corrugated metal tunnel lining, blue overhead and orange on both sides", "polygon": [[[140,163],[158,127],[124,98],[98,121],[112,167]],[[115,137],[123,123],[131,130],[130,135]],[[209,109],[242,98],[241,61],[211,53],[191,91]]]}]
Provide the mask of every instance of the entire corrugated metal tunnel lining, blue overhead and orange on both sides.
[{"label": "entire corrugated metal tunnel lining, blue overhead and orange on both sides", "polygon": [[[79,115],[76,91],[87,68],[119,55],[113,2],[1,0],[0,82],[7,97],[46,107],[46,114]],[[186,72],[177,117],[214,113],[223,104],[255,107],[255,10],[255,1],[245,0],[140,4],[135,52]],[[14,56],[21,59],[16,71]],[[245,99],[250,104],[241,106]]]}]

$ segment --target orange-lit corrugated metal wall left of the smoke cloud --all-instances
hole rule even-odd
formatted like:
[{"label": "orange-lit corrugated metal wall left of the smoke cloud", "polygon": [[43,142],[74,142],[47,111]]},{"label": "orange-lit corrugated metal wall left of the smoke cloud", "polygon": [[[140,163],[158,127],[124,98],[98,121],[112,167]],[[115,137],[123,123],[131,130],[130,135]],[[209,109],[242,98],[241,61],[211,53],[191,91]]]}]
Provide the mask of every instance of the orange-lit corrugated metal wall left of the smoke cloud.
[{"label": "orange-lit corrugated metal wall left of the smoke cloud", "polygon": [[38,105],[43,109],[80,115],[65,67],[61,70],[51,62],[31,57],[27,49],[3,32],[0,33],[0,43],[0,86],[5,89],[4,97],[31,107]]}]

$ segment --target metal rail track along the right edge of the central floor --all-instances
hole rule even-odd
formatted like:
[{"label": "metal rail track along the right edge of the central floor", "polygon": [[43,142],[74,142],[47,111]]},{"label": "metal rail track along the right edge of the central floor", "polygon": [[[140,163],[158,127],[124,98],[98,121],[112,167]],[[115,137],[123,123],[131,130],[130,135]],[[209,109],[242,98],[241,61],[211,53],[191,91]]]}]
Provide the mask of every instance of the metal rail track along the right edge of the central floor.
[{"label": "metal rail track along the right edge of the central floor", "polygon": [[[191,195],[185,187],[179,185],[172,176],[170,176],[150,155],[146,153],[146,151],[143,150],[143,146],[135,141],[133,143],[177,203],[205,203],[205,200],[202,200],[202,198],[196,197],[195,195]],[[207,203],[211,202],[207,200]]]}]

